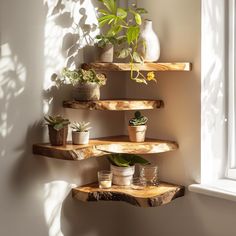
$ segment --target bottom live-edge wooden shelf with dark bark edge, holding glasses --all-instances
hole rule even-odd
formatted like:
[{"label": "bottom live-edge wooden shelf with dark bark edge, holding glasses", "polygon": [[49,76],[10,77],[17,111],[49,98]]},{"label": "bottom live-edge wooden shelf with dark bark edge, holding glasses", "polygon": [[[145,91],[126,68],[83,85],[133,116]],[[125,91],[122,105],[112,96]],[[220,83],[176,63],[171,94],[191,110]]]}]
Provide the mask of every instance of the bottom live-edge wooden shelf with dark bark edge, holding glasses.
[{"label": "bottom live-edge wooden shelf with dark bark edge, holding glasses", "polygon": [[72,196],[80,201],[124,201],[138,207],[156,207],[184,196],[185,188],[161,182],[159,186],[149,186],[144,190],[130,187],[112,186],[99,189],[98,183],[72,189]]}]

